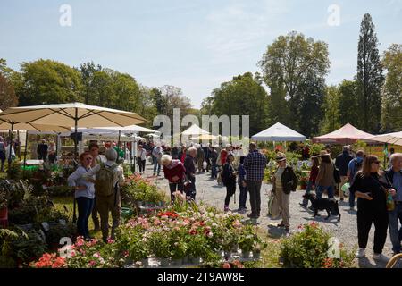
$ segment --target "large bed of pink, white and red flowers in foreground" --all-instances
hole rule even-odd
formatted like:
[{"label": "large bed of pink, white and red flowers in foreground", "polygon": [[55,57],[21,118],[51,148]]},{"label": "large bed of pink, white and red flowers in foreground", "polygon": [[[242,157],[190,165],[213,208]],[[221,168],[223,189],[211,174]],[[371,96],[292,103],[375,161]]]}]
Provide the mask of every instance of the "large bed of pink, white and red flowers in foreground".
[{"label": "large bed of pink, white and red flowers in foreground", "polygon": [[[222,214],[213,207],[181,203],[150,216],[139,216],[121,225],[116,240],[107,244],[79,238],[65,258],[63,267],[98,268],[147,266],[147,258],[155,257],[174,265],[193,261],[195,265],[222,265],[222,251],[226,256],[240,248],[244,253],[258,253],[264,243],[255,226],[240,223],[238,214]],[[202,258],[202,263],[200,258]],[[46,254],[34,267],[53,267],[44,263],[57,259]],[[62,260],[56,260],[56,266]],[[166,265],[163,265],[166,266]]]}]

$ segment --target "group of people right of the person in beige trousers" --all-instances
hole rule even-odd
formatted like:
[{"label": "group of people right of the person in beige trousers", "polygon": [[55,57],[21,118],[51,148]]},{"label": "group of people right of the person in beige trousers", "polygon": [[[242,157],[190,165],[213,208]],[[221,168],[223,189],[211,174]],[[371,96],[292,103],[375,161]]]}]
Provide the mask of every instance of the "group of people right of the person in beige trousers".
[{"label": "group of people right of the person in beige trousers", "polygon": [[[321,162],[319,159],[321,158]],[[364,154],[357,150],[356,156],[349,146],[343,147],[333,163],[328,151],[320,156],[312,156],[312,167],[306,187],[306,194],[313,189],[316,197],[322,198],[324,190],[328,198],[335,200],[334,189],[339,190],[339,200],[344,201],[343,186],[348,183],[349,211],[355,211],[357,198],[357,232],[359,250],[356,257],[365,256],[369,232],[374,224],[373,259],[387,261],[382,255],[387,230],[389,230],[394,254],[401,251],[402,240],[402,154],[393,152],[389,156],[389,166],[381,170],[381,161],[377,156]],[[339,172],[339,182],[334,173]],[[337,188],[335,188],[337,187]],[[306,196],[305,196],[306,197]],[[306,207],[306,198],[300,203]],[[286,216],[286,212],[285,212]]]}]

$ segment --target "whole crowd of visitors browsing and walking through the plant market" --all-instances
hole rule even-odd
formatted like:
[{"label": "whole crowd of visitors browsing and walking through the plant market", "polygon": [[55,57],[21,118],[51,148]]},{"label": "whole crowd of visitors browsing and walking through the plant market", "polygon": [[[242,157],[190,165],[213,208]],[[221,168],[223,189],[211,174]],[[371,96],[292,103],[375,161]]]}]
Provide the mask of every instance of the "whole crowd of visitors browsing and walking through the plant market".
[{"label": "whole crowd of visitors browsing and walking through the plant market", "polygon": [[[42,147],[38,147],[38,150],[42,150]],[[68,179],[69,185],[76,190],[78,232],[87,239],[90,239],[88,220],[91,214],[95,229],[102,231],[105,241],[109,235],[113,238],[120,223],[120,187],[124,176],[121,166],[116,164],[118,157],[114,145],[106,148],[105,156],[101,156],[99,147],[92,143],[88,151],[80,155],[80,166]],[[326,194],[324,199],[328,200],[335,200],[335,197],[339,196],[340,201],[348,196],[351,212],[355,210],[357,198],[359,250],[356,257],[365,255],[372,224],[375,228],[373,258],[386,260],[381,253],[388,230],[392,249],[395,254],[399,253],[402,240],[402,229],[399,228],[399,223],[402,223],[402,154],[392,154],[389,158],[390,168],[385,171],[381,171],[380,160],[376,156],[365,156],[363,150],[352,153],[348,146],[343,147],[342,153],[334,159],[328,150],[309,157],[311,170],[306,194],[314,192],[316,199],[322,199]],[[275,160],[277,169],[271,178],[274,199],[269,213],[272,217],[281,218],[278,227],[289,230],[290,194],[296,191],[299,180],[293,167],[287,163],[284,153],[277,152]],[[230,199],[239,188],[239,208],[236,211],[240,214],[248,212],[248,198],[251,210],[247,216],[255,220],[261,216],[261,189],[268,162],[255,143],[250,143],[249,152],[244,156],[241,147],[231,145],[222,147],[195,144],[191,147],[170,148],[141,142],[137,150],[139,173],[145,172],[147,161],[153,165],[155,178],[160,176],[163,170],[164,178],[169,183],[172,201],[178,192],[188,200],[196,200],[196,174],[210,172],[210,178],[222,183],[226,188],[226,196],[222,202],[225,212],[230,211]],[[344,188],[344,185],[348,188]],[[348,189],[348,193],[344,193],[345,189]],[[307,199],[300,205],[307,207]],[[113,220],[111,233],[109,214],[112,214]]]}]

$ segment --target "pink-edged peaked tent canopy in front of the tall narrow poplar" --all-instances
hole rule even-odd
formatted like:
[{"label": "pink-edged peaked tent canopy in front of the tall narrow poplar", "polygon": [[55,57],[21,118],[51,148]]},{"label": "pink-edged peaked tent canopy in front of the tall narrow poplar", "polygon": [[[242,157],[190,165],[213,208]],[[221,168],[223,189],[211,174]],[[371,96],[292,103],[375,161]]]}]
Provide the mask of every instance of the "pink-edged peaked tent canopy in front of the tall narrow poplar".
[{"label": "pink-edged peaked tent canopy in front of the tall narrow poplar", "polygon": [[348,123],[339,130],[335,130],[329,134],[314,137],[314,143],[338,143],[338,144],[353,144],[357,140],[371,141],[372,134],[358,130],[355,126]]}]

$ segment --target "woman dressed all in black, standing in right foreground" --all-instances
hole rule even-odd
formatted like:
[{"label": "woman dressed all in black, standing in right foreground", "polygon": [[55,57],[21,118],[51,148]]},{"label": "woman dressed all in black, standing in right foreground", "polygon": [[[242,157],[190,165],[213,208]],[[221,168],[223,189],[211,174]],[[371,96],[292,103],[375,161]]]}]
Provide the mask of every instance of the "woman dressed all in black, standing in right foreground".
[{"label": "woman dressed all in black, standing in right foreground", "polygon": [[387,262],[382,255],[382,248],[387,239],[388,211],[387,194],[395,196],[389,181],[380,171],[380,160],[377,156],[367,156],[363,162],[362,171],[357,172],[356,179],[350,187],[357,198],[357,236],[359,250],[356,257],[365,257],[365,248],[374,223],[374,253],[373,259]]}]

